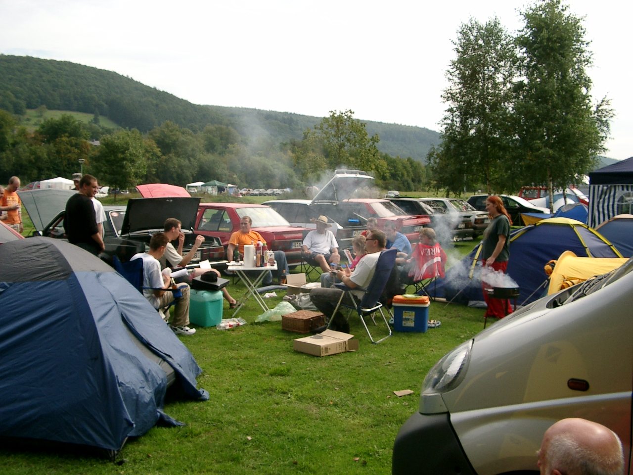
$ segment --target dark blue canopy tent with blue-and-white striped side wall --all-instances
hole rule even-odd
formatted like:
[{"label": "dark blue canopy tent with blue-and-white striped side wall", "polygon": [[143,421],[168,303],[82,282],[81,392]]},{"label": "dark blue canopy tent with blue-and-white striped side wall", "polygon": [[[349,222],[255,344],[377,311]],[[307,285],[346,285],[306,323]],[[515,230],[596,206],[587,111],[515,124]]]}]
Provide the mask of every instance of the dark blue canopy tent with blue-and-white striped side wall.
[{"label": "dark blue canopy tent with blue-and-white striped side wall", "polygon": [[633,213],[633,156],[589,174],[587,224],[596,227],[622,213]]}]

